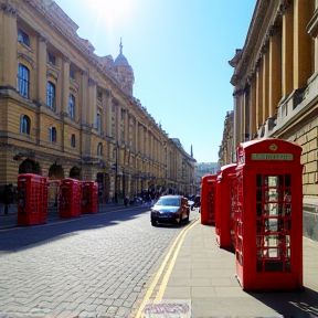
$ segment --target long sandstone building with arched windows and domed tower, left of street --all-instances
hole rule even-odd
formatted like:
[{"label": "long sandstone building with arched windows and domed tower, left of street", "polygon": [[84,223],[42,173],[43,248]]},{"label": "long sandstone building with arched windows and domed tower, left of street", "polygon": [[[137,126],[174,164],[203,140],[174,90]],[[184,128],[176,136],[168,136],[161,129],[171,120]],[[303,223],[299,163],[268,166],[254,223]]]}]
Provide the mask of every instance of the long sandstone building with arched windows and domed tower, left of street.
[{"label": "long sandstone building with arched windows and domed tower, left of street", "polygon": [[54,1],[0,0],[0,200],[25,172],[96,180],[103,202],[191,193],[195,159],[134,97],[121,40],[114,61],[77,29]]}]

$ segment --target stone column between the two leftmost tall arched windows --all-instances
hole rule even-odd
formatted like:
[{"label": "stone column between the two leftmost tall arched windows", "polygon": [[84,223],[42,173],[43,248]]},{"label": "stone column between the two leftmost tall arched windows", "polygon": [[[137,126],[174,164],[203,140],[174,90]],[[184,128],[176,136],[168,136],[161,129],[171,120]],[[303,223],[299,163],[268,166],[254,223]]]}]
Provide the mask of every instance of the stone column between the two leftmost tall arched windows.
[{"label": "stone column between the two leftmost tall arched windows", "polygon": [[36,98],[40,103],[46,104],[46,39],[38,38],[38,92]]}]

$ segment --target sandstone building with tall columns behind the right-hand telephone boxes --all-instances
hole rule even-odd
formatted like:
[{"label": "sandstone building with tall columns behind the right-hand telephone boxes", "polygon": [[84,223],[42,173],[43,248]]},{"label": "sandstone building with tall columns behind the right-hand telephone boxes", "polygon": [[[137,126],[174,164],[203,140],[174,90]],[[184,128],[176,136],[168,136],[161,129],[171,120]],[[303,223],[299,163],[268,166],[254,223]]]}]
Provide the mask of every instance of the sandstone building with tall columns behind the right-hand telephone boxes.
[{"label": "sandstone building with tall columns behind the right-hand telephone boxes", "polygon": [[[282,138],[303,147],[304,195],[318,188],[318,1],[257,0],[234,67],[233,136],[224,134],[220,160],[235,161],[241,141]],[[232,153],[224,147],[233,138]],[[222,149],[227,149],[225,152]]]}]

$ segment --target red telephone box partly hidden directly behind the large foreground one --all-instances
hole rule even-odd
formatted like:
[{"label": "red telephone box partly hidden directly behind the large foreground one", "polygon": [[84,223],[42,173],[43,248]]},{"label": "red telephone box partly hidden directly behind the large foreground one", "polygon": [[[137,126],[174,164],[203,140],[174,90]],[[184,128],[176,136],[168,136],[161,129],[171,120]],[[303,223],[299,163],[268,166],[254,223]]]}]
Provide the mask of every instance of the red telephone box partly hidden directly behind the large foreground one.
[{"label": "red telephone box partly hidden directly behind the large foreground one", "polygon": [[218,199],[215,209],[216,243],[222,248],[233,247],[231,237],[231,187],[236,163],[221,167],[218,172]]}]

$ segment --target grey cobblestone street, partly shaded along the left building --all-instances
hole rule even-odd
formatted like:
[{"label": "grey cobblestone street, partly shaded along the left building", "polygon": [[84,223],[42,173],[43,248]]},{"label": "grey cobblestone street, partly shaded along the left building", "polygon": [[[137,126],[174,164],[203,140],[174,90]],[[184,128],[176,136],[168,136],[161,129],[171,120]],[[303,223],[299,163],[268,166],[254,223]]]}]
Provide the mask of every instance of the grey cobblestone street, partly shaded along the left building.
[{"label": "grey cobblestone street, partly shaded along the left building", "polygon": [[129,317],[183,227],[148,211],[0,231],[0,317]]}]

